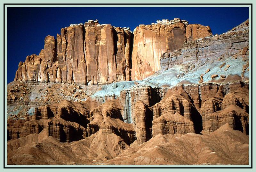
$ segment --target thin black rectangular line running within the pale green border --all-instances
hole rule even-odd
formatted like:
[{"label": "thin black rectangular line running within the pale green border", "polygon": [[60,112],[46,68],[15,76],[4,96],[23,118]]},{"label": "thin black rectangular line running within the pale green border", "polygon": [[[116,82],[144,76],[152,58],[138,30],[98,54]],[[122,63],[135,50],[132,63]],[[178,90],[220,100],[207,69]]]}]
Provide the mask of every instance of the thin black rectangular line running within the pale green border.
[{"label": "thin black rectangular line running within the pale green border", "polygon": [[[252,4],[4,4],[4,145],[5,145],[5,5],[251,5],[251,63],[252,63]],[[47,7],[45,7],[47,8]],[[49,8],[49,7],[48,7]],[[68,8],[68,7],[67,7]],[[74,7],[76,8],[76,7]],[[120,8],[120,7],[118,7]],[[121,7],[122,8],[122,7]],[[150,7],[149,7],[150,8]],[[186,7],[184,7],[186,8]],[[188,7],[189,8],[189,7]],[[202,7],[203,8],[203,7]],[[250,14],[249,14],[250,15]],[[252,65],[252,64],[251,64]],[[252,76],[252,68],[251,76]],[[252,77],[250,78],[252,88]],[[251,89],[252,93],[252,89]],[[252,97],[251,97],[251,113],[252,113]],[[252,114],[251,114],[252,121]],[[251,122],[251,167],[5,167],[5,146],[4,146],[4,168],[252,168],[252,122]]]}]

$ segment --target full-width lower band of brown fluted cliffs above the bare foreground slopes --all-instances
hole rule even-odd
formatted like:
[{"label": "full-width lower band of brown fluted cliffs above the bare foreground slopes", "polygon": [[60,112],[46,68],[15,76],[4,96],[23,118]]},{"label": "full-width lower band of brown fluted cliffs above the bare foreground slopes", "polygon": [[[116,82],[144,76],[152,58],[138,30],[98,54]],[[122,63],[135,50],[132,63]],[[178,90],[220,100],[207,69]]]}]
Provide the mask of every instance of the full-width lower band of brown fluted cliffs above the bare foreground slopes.
[{"label": "full-width lower band of brown fluted cliffs above the bare foreground slopes", "polygon": [[228,123],[249,133],[249,85],[244,82],[180,84],[152,88],[136,85],[103,104],[61,101],[36,107],[30,118],[8,119],[8,140],[47,130],[61,142],[71,142],[98,131],[115,133],[130,145],[158,134],[208,134]]}]

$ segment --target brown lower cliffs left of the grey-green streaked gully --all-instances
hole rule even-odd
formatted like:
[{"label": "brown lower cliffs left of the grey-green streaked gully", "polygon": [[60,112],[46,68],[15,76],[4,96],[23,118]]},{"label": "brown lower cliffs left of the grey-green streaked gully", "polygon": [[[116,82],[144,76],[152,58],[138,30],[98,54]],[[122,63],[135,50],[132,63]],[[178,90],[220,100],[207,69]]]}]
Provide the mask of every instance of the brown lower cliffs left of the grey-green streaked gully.
[{"label": "brown lower cliffs left of the grey-green streaked gully", "polygon": [[136,140],[132,124],[124,122],[118,101],[83,103],[62,101],[35,108],[31,120],[8,120],[8,140],[25,137],[47,130],[48,136],[60,142],[71,142],[88,137],[100,129],[103,133],[115,133],[127,144]]}]

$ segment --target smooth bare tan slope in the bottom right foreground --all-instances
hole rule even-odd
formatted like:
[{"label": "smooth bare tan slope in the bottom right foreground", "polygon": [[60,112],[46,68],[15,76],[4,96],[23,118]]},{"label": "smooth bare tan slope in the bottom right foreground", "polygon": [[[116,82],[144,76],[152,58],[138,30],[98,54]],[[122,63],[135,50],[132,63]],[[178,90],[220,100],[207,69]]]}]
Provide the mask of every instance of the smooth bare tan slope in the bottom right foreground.
[{"label": "smooth bare tan slope in the bottom right foreground", "polygon": [[208,135],[159,134],[144,144],[126,149],[104,164],[248,164],[248,141],[246,135],[232,130],[228,124]]}]

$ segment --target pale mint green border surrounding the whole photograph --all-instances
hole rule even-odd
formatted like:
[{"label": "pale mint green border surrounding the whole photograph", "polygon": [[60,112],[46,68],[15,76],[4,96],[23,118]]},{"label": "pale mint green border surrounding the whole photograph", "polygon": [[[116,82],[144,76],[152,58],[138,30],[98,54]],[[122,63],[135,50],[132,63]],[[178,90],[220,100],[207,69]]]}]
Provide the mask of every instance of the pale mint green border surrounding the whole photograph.
[{"label": "pale mint green border surrounding the whole photograph", "polygon": [[[21,3],[21,1],[18,1],[18,0],[12,0],[12,1],[7,1],[7,0],[5,0],[4,1],[4,3]],[[67,1],[67,0],[62,0],[62,1],[50,1],[50,0],[44,0],[44,1],[42,1],[42,0],[40,0],[40,1],[32,1],[32,0],[26,0],[26,1],[22,1],[22,3],[107,3],[106,1],[103,1],[103,0],[98,0],[97,2],[96,1]],[[108,3],[166,3],[166,4],[168,4],[168,3],[192,3],[191,1],[189,1],[189,0],[183,0],[182,2],[181,1],[174,1],[174,2],[171,2],[171,1],[167,1],[167,0],[165,0],[165,1],[163,1],[163,0],[161,0],[161,1],[154,1],[154,2],[149,2],[148,0],[143,0],[143,1],[140,1],[140,2],[138,2],[138,1],[135,1],[135,0],[130,0],[130,1],[111,1],[111,2],[109,2],[108,1]],[[213,1],[213,2],[206,2],[206,1],[203,1],[203,0],[197,0],[197,1],[193,1],[193,3],[252,3],[252,1],[247,1],[247,0],[244,0],[244,1],[235,1],[235,0],[233,0],[233,1],[226,1],[226,2],[223,2],[223,0],[222,1],[220,1],[220,0],[215,0],[215,1]],[[251,8],[250,8],[250,5],[6,5],[5,6],[5,47],[4,47],[4,45],[3,45],[3,41],[1,41],[1,46],[0,46],[0,49],[1,49],[1,52],[3,53],[3,47],[4,47],[4,49],[5,49],[5,63],[4,63],[4,58],[1,58],[1,64],[4,64],[5,65],[5,80],[4,80],[4,78],[2,78],[3,77],[3,75],[1,75],[0,77],[4,80],[4,83],[5,83],[5,93],[7,92],[7,10],[6,10],[6,8],[7,7],[95,7],[95,6],[97,6],[97,7],[198,7],[198,6],[200,6],[200,7],[249,7],[249,20],[250,20],[250,23],[251,23]],[[3,6],[2,6],[2,9],[4,8],[4,4],[3,4]],[[254,7],[255,8],[255,7]],[[139,15],[139,14],[138,14]],[[235,15],[235,14],[234,14]],[[255,19],[255,17],[254,17],[254,14],[253,14],[253,18]],[[1,20],[1,22],[3,23],[3,11],[1,12],[1,18],[0,18],[0,20]],[[88,19],[84,19],[84,21],[85,20],[88,20]],[[83,22],[83,21],[81,21],[81,22]],[[152,21],[152,22],[154,22],[154,21]],[[228,21],[227,21],[228,22]],[[254,21],[253,20],[253,28],[255,29],[255,22],[256,21]],[[3,27],[1,27],[1,31],[2,31],[2,33],[4,32],[3,31]],[[251,56],[251,50],[252,50],[252,47],[251,47],[251,40],[252,40],[252,38],[251,38],[251,25],[250,25],[250,30],[249,30],[249,50],[250,50],[250,53],[249,53],[249,55]],[[18,29],[18,27],[17,27],[17,32],[19,32],[19,29]],[[256,32],[256,31],[255,31]],[[3,40],[4,38],[3,38],[3,34],[1,34],[1,39]],[[253,36],[253,40],[255,40],[255,36]],[[254,43],[254,47],[255,47],[255,43]],[[256,49],[254,48],[254,51],[256,51]],[[255,52],[254,52],[254,54],[255,54]],[[255,56],[255,55],[253,55],[253,56]],[[255,58],[254,58],[255,59]],[[255,60],[253,61],[253,63],[255,64]],[[251,74],[251,71],[252,71],[252,68],[251,68],[251,58],[250,58],[250,60],[249,60],[249,68],[250,68],[250,74],[249,74],[249,80],[251,81],[251,79],[252,79],[252,74]],[[254,65],[255,66],[255,65]],[[255,82],[255,79],[253,79],[254,81],[253,81],[253,83]],[[251,90],[251,82],[249,83],[250,85],[249,85],[249,95],[250,95],[250,100],[252,99],[252,96],[251,96],[251,93],[252,93],[252,90]],[[255,83],[254,83],[254,85],[255,85]],[[2,88],[1,90],[3,90],[3,84],[1,84],[0,85],[0,87]],[[255,95],[255,93],[254,93],[254,95]],[[253,95],[253,97],[254,97],[254,95]],[[4,95],[4,92],[2,92],[1,91],[1,96],[2,97],[4,97],[5,99],[5,106],[3,107],[3,104],[4,104],[4,102],[2,102],[3,101],[3,99],[1,99],[1,106],[2,106],[2,109],[5,109],[5,113],[7,112],[7,105],[6,105],[6,100],[7,100],[7,96],[6,96],[6,94]],[[251,101],[249,102],[249,107],[252,107],[252,104],[251,104]],[[253,107],[253,112],[255,111],[255,109],[254,109],[254,107]],[[250,117],[252,116],[252,112],[251,112],[251,108],[249,108],[249,114],[250,114]],[[3,115],[5,115],[5,114],[3,114]],[[253,122],[255,123],[255,118],[256,117],[254,117],[253,118]],[[250,118],[251,119],[251,118]],[[2,121],[3,122],[3,121]],[[2,123],[3,124],[3,123]],[[4,121],[4,124],[5,124],[5,128],[7,127],[7,119],[5,118],[5,121]],[[186,168],[188,168],[188,167],[193,167],[193,168],[195,168],[195,167],[199,167],[199,168],[202,168],[202,167],[212,167],[212,168],[215,168],[215,167],[220,167],[220,168],[222,168],[222,167],[251,167],[251,124],[252,124],[252,121],[251,120],[249,120],[249,125],[250,125],[250,127],[249,127],[249,131],[250,131],[250,135],[249,135],[249,165],[143,165],[143,166],[140,166],[140,165],[130,165],[130,166],[127,166],[127,165],[75,165],[75,166],[73,166],[73,165],[15,165],[15,166],[12,166],[12,165],[7,165],[7,144],[5,144],[5,145],[3,145],[3,141],[4,140],[2,140],[2,138],[3,138],[3,132],[4,131],[2,131],[2,132],[0,132],[0,138],[1,138],[1,141],[0,141],[0,150],[1,150],[1,152],[2,152],[2,154],[1,154],[1,156],[0,156],[0,162],[1,162],[1,167],[0,168],[3,168],[3,161],[4,161],[4,159],[3,159],[3,146],[5,146],[5,167],[76,167],[76,168],[79,168],[79,167],[139,167],[139,168],[141,168],[141,167],[150,167],[150,168],[152,168],[152,167],[186,167]],[[255,127],[253,128],[253,133],[255,133]],[[253,137],[254,139],[253,139],[253,141],[255,140],[255,137]],[[6,134],[5,134],[5,140],[7,140],[7,136],[6,136]],[[255,141],[254,141],[255,142]],[[253,150],[255,150],[255,148],[253,149]],[[253,154],[254,154],[254,152],[255,151],[253,151]],[[255,160],[255,155],[253,156],[254,158],[253,158],[253,160]],[[4,169],[4,170],[11,170],[11,171],[16,171],[16,170],[36,170],[36,171],[45,171],[45,170],[48,170],[48,169]],[[68,171],[72,171],[72,170],[78,170],[78,169],[55,169],[55,170],[68,170]],[[79,170],[99,170],[99,171],[101,171],[101,170],[107,170],[107,171],[109,171],[109,170],[122,170],[122,171],[133,171],[133,170],[136,170],[136,169],[111,169],[111,168],[109,168],[109,169],[79,169]],[[155,171],[155,170],[164,170],[164,169],[139,169],[139,170],[147,170],[147,171]],[[173,169],[165,169],[165,170],[173,170]],[[196,171],[198,171],[198,170],[207,170],[207,171],[215,171],[215,170],[220,170],[220,169],[176,169],[176,170],[196,170]],[[244,170],[246,170],[246,169],[224,169],[224,170],[232,170],[232,171],[236,171],[236,170],[239,170],[239,171],[244,171]],[[247,169],[247,170],[251,170],[251,169]]]}]

